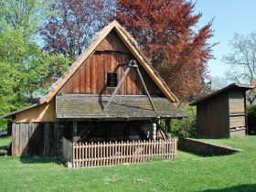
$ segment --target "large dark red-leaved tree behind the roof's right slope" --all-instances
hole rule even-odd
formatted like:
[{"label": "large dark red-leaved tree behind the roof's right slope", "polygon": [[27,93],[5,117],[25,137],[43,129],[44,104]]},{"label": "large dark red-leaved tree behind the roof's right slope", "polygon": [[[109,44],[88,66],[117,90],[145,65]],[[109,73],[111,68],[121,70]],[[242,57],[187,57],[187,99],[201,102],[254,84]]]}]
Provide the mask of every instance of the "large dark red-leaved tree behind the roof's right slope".
[{"label": "large dark red-leaved tree behind the roof's right slope", "polygon": [[212,59],[207,40],[211,22],[198,29],[201,14],[185,0],[119,0],[117,20],[132,33],[152,64],[181,101],[194,99],[205,87],[207,61]]}]

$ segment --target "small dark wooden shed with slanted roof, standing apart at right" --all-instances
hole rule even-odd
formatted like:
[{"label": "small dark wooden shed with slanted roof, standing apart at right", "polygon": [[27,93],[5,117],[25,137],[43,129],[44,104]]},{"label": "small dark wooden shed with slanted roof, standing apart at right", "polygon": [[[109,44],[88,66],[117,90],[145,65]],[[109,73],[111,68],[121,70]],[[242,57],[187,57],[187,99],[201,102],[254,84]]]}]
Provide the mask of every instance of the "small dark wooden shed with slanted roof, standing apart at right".
[{"label": "small dark wooden shed with slanted roof, standing apart at right", "polygon": [[197,106],[197,136],[232,137],[247,131],[245,92],[254,86],[238,83],[193,101]]}]

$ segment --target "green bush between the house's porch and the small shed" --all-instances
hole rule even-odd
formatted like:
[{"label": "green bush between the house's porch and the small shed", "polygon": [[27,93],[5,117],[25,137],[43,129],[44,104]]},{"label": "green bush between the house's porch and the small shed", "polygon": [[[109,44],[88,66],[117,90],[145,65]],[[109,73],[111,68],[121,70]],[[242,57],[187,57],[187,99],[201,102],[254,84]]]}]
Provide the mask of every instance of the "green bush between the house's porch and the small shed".
[{"label": "green bush between the house's porch and the small shed", "polygon": [[188,106],[180,110],[187,114],[187,118],[172,120],[171,127],[173,135],[184,137],[195,136],[197,133],[197,108]]}]

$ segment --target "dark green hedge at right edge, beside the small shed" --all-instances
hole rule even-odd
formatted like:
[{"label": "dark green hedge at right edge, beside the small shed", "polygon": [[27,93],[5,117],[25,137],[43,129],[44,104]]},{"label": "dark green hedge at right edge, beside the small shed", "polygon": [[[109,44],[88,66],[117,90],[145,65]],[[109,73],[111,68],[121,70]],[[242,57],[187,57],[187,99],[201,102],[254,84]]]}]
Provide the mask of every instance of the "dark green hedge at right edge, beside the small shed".
[{"label": "dark green hedge at right edge, beside the small shed", "polygon": [[247,123],[248,123],[248,133],[256,134],[256,105],[249,105],[246,109],[247,113]]}]

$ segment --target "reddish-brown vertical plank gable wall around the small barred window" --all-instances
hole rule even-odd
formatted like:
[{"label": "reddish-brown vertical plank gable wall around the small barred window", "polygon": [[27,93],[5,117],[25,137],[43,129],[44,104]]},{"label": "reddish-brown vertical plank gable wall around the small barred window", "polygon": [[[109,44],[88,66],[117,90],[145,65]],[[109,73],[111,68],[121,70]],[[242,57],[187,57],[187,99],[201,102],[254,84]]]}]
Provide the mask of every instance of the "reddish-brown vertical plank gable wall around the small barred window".
[{"label": "reddish-brown vertical plank gable wall around the small barred window", "polygon": [[[132,53],[125,47],[123,41],[112,31],[96,48],[94,54],[87,59],[75,74],[59,91],[61,94],[112,94],[113,88],[107,88],[107,72],[117,72],[118,80],[123,76],[125,67],[117,68],[117,63],[134,59]],[[139,68],[146,87],[150,94],[159,95],[162,91],[151,80],[146,71]],[[140,95],[144,94],[142,82],[139,80],[135,69],[129,71],[123,81],[118,94]]]}]

